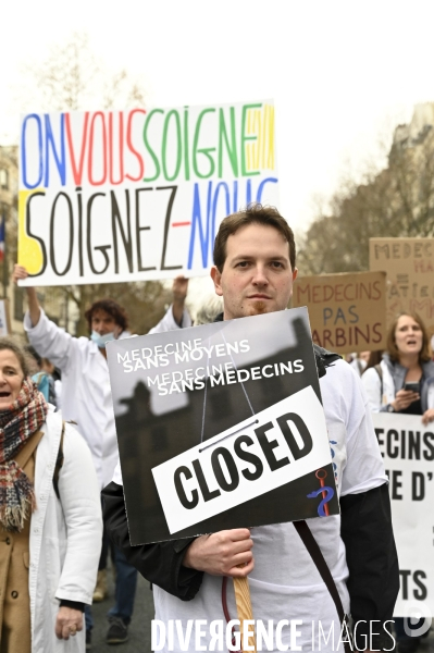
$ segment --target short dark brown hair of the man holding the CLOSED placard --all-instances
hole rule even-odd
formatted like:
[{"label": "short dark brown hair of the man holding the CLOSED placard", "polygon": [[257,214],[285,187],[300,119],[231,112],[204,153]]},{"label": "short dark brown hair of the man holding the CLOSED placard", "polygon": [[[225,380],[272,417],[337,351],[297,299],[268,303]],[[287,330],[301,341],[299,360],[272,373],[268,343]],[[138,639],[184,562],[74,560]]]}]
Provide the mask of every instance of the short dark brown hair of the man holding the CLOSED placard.
[{"label": "short dark brown hair of the man holding the CLOSED placard", "polygon": [[214,266],[219,272],[223,271],[223,266],[226,260],[226,243],[230,236],[233,236],[243,226],[249,224],[263,224],[276,229],[289,247],[290,267],[295,270],[296,267],[296,244],[294,233],[285,218],[281,215],[274,207],[263,207],[260,204],[251,204],[245,209],[240,209],[236,213],[231,213],[222,220],[219,233],[214,242]]}]

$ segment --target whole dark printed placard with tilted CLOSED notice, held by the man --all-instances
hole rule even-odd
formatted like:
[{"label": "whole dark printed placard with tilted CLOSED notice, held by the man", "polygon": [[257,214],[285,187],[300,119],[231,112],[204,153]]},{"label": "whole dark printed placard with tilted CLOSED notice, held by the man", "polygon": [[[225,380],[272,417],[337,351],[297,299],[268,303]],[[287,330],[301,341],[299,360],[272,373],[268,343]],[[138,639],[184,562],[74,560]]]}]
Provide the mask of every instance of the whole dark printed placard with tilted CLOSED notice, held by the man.
[{"label": "whole dark printed placard with tilted CLOSED notice, held by the man", "polygon": [[306,309],[113,341],[108,362],[133,545],[338,513]]}]

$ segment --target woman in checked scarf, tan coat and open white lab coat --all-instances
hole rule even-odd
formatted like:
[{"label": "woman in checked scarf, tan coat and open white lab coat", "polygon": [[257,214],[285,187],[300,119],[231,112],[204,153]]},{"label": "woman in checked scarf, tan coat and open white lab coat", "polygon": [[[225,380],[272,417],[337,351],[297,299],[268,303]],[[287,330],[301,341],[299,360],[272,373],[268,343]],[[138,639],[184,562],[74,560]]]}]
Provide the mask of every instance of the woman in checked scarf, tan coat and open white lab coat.
[{"label": "woman in checked scarf, tan coat and open white lab coat", "polygon": [[0,338],[1,653],[85,651],[101,532],[88,446]]}]

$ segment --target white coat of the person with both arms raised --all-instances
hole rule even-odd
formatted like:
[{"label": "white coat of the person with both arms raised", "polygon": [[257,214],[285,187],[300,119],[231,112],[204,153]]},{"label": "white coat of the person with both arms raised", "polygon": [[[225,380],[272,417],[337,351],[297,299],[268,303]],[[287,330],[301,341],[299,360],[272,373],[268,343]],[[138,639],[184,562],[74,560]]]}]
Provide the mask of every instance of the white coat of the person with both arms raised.
[{"label": "white coat of the person with both arms raised", "polygon": [[[183,326],[190,325],[190,317],[185,310]],[[44,310],[36,326],[32,325],[27,311],[24,329],[39,356],[49,358],[62,371],[63,419],[76,422],[76,429],[89,445],[102,489],[112,480],[119,459],[107,360],[91,340],[84,336],[73,337],[51,322]],[[170,307],[163,319],[149,333],[174,329],[179,326]]]}]

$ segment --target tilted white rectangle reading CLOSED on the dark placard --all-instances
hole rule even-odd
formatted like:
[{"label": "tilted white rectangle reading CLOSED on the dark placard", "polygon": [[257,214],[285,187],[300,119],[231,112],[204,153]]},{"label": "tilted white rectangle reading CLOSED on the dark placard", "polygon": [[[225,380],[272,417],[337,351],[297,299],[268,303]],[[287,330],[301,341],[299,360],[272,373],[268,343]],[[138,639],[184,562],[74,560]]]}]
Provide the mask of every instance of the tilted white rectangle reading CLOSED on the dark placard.
[{"label": "tilted white rectangle reading CLOSED on the dark placard", "polygon": [[[319,441],[314,447],[312,433]],[[183,530],[330,465],[326,435],[321,402],[309,386],[154,467],[169,531]],[[199,492],[206,501],[199,501]]]}]

